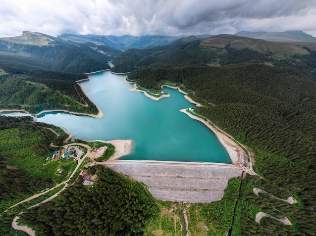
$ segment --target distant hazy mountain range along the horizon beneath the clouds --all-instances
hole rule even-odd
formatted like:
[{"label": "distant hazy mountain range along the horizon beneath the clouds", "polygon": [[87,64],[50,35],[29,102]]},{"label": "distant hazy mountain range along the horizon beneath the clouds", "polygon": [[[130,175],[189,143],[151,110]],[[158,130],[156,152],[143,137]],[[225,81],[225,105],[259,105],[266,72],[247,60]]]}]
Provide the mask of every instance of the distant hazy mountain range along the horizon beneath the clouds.
[{"label": "distant hazy mountain range along the horizon beneath the clouds", "polygon": [[[138,52],[137,50],[144,49],[145,51],[147,50],[147,52],[143,51],[141,55],[149,56],[154,52],[172,49],[169,53],[160,53],[160,57],[164,57],[163,55],[166,53],[168,57],[172,57],[178,55],[178,53],[175,52],[179,49],[175,49],[175,47],[183,46],[184,44],[194,41],[199,41],[199,45],[204,49],[208,48],[209,52],[213,51],[213,56],[215,54],[217,55],[219,50],[210,50],[210,48],[225,49],[228,45],[230,48],[238,50],[249,49],[257,53],[273,54],[273,57],[279,58],[293,55],[307,55],[308,52],[304,47],[312,47],[313,49],[316,47],[316,44],[306,45],[306,43],[316,42],[316,38],[302,31],[273,33],[241,31],[236,35],[223,34],[212,36],[203,34],[189,37],[93,34],[62,34],[54,37],[38,32],[24,31],[21,36],[0,38],[0,63],[14,63],[40,69],[87,73],[109,69],[110,66],[107,62],[112,60],[114,60],[114,62],[117,61],[122,51],[130,53],[128,50],[134,50],[135,56],[135,52]],[[284,44],[285,41],[287,41],[287,44]],[[294,41],[299,41],[299,45],[293,44]],[[180,51],[185,53],[183,49]],[[206,53],[208,55],[207,57],[213,57],[209,52]],[[193,51],[191,53],[194,54]],[[192,55],[189,53],[188,55],[182,55],[180,57],[186,57],[191,60]],[[195,63],[217,63],[218,58],[219,57],[209,58],[208,61],[198,59],[195,60]],[[160,59],[156,58],[155,60]],[[120,61],[121,63],[124,62],[122,60]],[[179,65],[181,65],[181,63]],[[122,72],[125,71],[125,69],[119,69],[119,71]]]}]

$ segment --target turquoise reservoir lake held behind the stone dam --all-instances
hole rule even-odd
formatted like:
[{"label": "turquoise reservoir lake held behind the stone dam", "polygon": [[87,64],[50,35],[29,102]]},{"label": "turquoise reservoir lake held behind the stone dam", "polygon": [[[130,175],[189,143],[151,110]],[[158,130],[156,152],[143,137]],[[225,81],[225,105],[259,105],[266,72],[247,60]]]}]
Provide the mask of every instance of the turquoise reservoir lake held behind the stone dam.
[{"label": "turquoise reservoir lake held behind the stone dam", "polygon": [[170,97],[153,101],[142,92],[129,91],[133,85],[125,78],[105,71],[81,82],[104,113],[101,119],[53,112],[37,121],[63,126],[78,139],[132,139],[133,153],[121,159],[231,163],[216,135],[180,112],[195,106],[182,93],[165,87]]}]

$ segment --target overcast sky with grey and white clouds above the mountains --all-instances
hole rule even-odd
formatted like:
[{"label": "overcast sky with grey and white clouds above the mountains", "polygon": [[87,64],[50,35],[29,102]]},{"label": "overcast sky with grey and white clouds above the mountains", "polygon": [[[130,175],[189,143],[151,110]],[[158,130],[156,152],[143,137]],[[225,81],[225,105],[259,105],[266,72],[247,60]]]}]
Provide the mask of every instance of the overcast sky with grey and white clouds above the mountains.
[{"label": "overcast sky with grey and white clouds above the mountains", "polygon": [[234,34],[303,30],[316,36],[316,0],[0,0],[0,37]]}]

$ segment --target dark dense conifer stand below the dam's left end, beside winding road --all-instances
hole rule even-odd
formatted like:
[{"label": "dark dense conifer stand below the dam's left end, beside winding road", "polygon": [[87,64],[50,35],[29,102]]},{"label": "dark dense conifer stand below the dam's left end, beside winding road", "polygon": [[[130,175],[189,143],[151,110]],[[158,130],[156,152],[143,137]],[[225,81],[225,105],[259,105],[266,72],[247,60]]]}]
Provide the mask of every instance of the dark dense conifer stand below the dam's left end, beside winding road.
[{"label": "dark dense conifer stand below the dam's left end, beside winding road", "polygon": [[142,235],[159,212],[154,199],[140,183],[98,168],[93,188],[68,187],[60,200],[27,210],[23,222],[39,235]]}]

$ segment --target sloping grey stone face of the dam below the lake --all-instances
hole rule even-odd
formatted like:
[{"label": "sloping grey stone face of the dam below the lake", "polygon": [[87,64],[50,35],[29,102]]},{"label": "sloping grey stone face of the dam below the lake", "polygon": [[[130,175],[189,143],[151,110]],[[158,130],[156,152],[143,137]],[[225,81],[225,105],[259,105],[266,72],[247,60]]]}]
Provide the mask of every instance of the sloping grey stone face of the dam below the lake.
[{"label": "sloping grey stone face of the dam below the lake", "polygon": [[[100,163],[98,163],[100,164]],[[104,162],[117,172],[147,185],[150,194],[159,200],[188,203],[219,201],[228,180],[241,176],[233,165],[185,165],[165,162]]]}]

